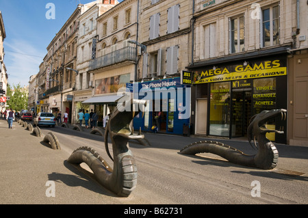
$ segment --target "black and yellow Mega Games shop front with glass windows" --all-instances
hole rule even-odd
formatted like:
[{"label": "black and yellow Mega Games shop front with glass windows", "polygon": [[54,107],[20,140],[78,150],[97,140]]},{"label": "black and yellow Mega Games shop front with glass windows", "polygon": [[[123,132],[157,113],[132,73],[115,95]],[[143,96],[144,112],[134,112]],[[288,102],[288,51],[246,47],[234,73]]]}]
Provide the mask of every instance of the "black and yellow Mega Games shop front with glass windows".
[{"label": "black and yellow Mega Games shop front with glass windows", "polygon": [[[198,107],[201,98],[196,98],[195,120],[203,119],[201,111],[207,114],[207,135],[246,136],[253,115],[264,110],[287,109],[286,63],[286,57],[281,56],[195,69],[192,77],[192,84],[196,86],[194,94],[203,96],[207,103],[202,111]],[[266,124],[270,129],[280,126],[286,132],[285,121],[270,120]],[[286,141],[286,133],[268,133],[267,137],[281,143]]]}]

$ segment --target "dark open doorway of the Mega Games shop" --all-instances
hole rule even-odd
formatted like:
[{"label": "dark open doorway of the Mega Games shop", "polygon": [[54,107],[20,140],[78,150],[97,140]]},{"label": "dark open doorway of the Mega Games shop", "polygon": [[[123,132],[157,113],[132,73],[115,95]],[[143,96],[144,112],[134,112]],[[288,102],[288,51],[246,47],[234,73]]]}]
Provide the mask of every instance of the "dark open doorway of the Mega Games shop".
[{"label": "dark open doorway of the Mega Games shop", "polygon": [[251,89],[236,89],[232,91],[231,105],[231,136],[243,137],[247,135],[247,128],[251,118]]}]

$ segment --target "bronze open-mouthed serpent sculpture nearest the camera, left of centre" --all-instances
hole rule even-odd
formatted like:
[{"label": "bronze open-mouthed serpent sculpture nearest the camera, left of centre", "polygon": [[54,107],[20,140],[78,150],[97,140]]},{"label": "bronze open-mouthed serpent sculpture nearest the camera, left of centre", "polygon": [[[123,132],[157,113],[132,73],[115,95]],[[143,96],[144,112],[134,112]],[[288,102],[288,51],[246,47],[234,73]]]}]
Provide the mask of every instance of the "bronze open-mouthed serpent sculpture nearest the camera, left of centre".
[{"label": "bronze open-mouthed serpent sculpture nearest the camera, left of centre", "polygon": [[[137,167],[131,150],[129,150],[129,139],[142,139],[144,135],[134,135],[132,120],[144,109],[146,102],[143,100],[131,99],[126,101],[130,104],[130,110],[116,109],[113,111],[105,130],[105,149],[114,161],[114,167],[108,165],[105,160],[92,148],[81,147],[75,150],[68,158],[68,163],[86,163],[98,182],[103,187],[116,193],[119,196],[127,197],[136,188]],[[135,106],[139,106],[135,111]],[[119,106],[119,105],[118,105]],[[120,107],[129,105],[120,105]],[[128,107],[129,108],[129,107]],[[112,141],[112,152],[108,148],[108,135]]]}]

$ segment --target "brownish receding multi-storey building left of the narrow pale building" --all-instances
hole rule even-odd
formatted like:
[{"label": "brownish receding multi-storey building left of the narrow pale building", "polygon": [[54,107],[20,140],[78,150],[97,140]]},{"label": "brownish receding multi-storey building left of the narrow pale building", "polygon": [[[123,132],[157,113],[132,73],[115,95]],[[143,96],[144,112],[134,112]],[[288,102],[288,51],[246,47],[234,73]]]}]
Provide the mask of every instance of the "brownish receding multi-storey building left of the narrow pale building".
[{"label": "brownish receding multi-storey building left of the narrow pale building", "polygon": [[79,4],[66,23],[47,46],[46,91],[44,100],[48,101],[49,112],[68,112],[71,121],[73,90],[75,90],[77,33],[81,8]]}]

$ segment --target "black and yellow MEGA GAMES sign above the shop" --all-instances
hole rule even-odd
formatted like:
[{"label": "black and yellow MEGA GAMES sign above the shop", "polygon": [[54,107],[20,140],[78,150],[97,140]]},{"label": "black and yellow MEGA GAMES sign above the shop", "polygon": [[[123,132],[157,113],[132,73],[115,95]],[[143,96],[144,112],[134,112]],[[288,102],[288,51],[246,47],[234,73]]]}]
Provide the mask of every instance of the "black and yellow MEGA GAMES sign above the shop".
[{"label": "black and yellow MEGA GAMES sign above the shop", "polygon": [[285,59],[271,59],[260,62],[244,62],[231,66],[206,67],[196,70],[192,75],[192,84],[277,77],[286,74]]}]

